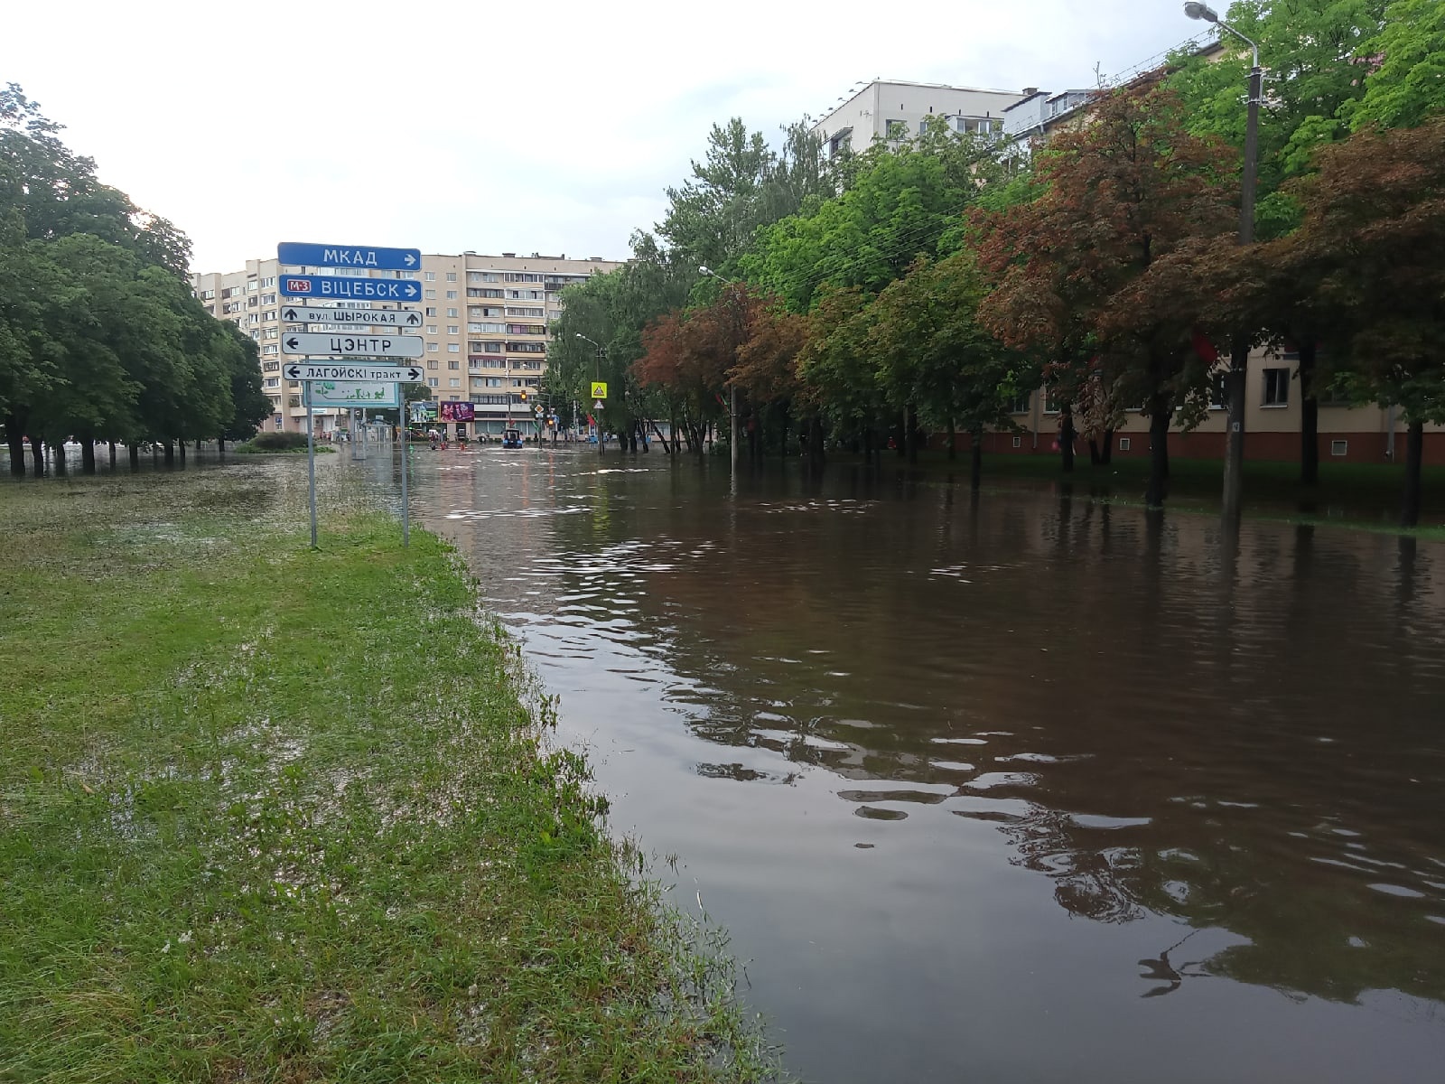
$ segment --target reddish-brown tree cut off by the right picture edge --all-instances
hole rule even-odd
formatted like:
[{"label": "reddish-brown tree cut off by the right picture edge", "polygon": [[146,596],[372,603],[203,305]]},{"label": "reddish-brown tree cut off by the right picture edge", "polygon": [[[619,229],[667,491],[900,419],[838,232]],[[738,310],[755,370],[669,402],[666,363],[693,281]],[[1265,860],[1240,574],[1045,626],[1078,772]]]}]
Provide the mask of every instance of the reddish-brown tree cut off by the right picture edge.
[{"label": "reddish-brown tree cut off by the right picture edge", "polygon": [[1315,283],[1316,306],[1331,314],[1325,343],[1353,361],[1353,396],[1400,408],[1400,519],[1413,526],[1425,423],[1445,422],[1445,117],[1324,147],[1295,192],[1303,223],[1261,259],[1277,276]]}]

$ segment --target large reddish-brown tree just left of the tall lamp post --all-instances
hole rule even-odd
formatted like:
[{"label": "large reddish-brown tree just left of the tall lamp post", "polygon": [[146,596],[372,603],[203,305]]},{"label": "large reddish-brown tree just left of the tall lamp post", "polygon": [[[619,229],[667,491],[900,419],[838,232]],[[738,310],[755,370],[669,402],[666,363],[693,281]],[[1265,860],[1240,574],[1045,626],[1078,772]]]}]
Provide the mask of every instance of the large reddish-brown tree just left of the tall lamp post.
[{"label": "large reddish-brown tree just left of the tall lamp post", "polygon": [[[1101,95],[1088,124],[1049,143],[1038,199],[974,218],[997,283],[983,325],[1065,371],[1103,356],[1118,395],[1144,405],[1150,507],[1165,499],[1175,410],[1207,389],[1194,348],[1208,305],[1201,243],[1234,224],[1233,155],[1183,121],[1183,103],[1157,77]],[[1071,428],[1065,416],[1061,442]]]}]

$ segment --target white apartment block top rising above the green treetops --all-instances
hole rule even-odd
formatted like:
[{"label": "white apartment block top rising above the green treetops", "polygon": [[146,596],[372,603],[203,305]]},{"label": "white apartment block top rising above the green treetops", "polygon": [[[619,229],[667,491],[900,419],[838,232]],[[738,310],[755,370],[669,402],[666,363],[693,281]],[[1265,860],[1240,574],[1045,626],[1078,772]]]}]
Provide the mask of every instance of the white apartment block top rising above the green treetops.
[{"label": "white apartment block top rising above the green treetops", "polygon": [[874,79],[840,100],[812,130],[829,156],[844,147],[863,153],[874,137],[916,139],[932,117],[942,117],[954,132],[1001,133],[1004,110],[1023,97],[1016,91]]}]

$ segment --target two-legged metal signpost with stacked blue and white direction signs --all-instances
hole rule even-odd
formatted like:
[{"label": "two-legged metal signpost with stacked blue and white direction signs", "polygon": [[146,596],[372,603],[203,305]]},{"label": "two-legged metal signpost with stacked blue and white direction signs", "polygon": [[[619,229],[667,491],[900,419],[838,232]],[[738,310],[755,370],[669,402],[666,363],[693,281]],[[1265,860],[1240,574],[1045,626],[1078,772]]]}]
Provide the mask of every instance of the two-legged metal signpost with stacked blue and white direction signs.
[{"label": "two-legged metal signpost with stacked blue and white direction signs", "polygon": [[[367,244],[309,244],[282,241],[276,259],[289,267],[328,269],[354,267],[371,270],[415,272],[422,264],[419,249],[379,249]],[[280,275],[279,291],[286,298],[308,301],[394,302],[397,306],[418,301],[422,288],[415,279],[371,279],[351,275]],[[288,324],[324,324],[351,328],[341,332],[290,331],[282,337],[283,354],[301,357],[288,361],[282,374],[302,382],[306,405],[306,474],[311,483],[311,546],[316,548],[316,434],[312,408],[319,406],[402,406],[400,383],[420,383],[426,370],[420,364],[406,364],[420,358],[426,350],[419,335],[399,334],[416,328],[422,318],[415,309],[322,308],[290,304],[280,317]],[[316,358],[361,358],[327,361]],[[405,419],[397,426],[402,435],[402,545],[409,546],[410,502],[407,500],[407,458]],[[358,432],[357,435],[364,436]]]}]

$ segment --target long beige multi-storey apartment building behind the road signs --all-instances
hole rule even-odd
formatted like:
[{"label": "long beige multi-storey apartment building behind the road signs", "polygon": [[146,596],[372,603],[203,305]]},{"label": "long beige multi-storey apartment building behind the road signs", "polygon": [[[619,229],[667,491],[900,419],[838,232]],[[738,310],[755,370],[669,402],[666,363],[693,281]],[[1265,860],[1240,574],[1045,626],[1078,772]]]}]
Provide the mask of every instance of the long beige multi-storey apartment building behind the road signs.
[{"label": "long beige multi-storey apartment building behind the road signs", "polygon": [[[418,270],[377,272],[364,267],[283,267],[275,257],[247,260],[244,270],[192,275],[192,289],[218,319],[230,319],[260,347],[262,383],[272,400],[267,428],[305,432],[306,408],[299,383],[282,377],[280,348],[286,331],[303,331],[285,319],[282,273],[416,279],[422,298],[419,334],[426,341],[422,366],[432,400],[473,405],[475,422],[454,423],[458,432],[501,432],[510,422],[532,419],[535,392],[546,373],[549,328],[562,312],[564,288],[621,266],[600,256],[457,256],[423,254]],[[308,301],[315,306],[316,301]],[[380,302],[319,302],[324,306],[384,308]],[[331,330],[316,328],[312,330]],[[341,328],[334,328],[341,330]],[[312,412],[318,434],[342,419],[337,410]]]}]

